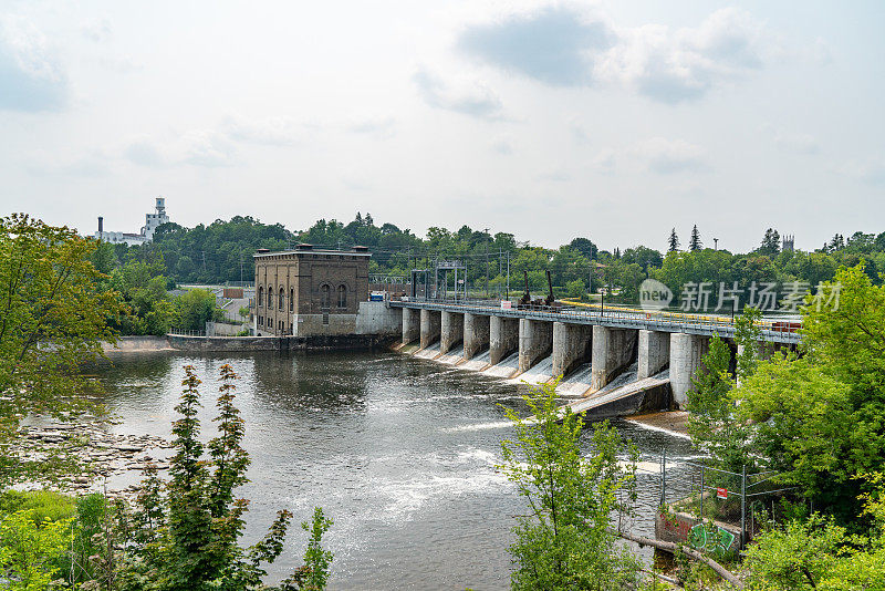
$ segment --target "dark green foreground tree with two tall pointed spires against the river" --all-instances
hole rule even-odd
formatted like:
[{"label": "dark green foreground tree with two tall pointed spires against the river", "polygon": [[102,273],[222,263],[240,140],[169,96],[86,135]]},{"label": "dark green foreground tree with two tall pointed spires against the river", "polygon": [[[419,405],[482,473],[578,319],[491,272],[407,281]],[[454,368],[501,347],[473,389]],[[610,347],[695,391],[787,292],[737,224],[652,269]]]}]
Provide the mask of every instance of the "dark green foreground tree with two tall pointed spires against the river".
[{"label": "dark green foreground tree with two tall pointed spires against the river", "polygon": [[[124,591],[199,591],[267,589],[261,579],[263,564],[283,550],[291,514],[282,510],[267,536],[243,549],[238,545],[244,529],[248,501],[236,497],[237,487],[248,481],[249,456],[241,447],[244,425],[235,406],[237,374],[221,366],[217,407],[218,435],[208,443],[209,459],[199,440],[199,379],[185,366],[184,391],[173,424],[175,455],[169,462],[170,480],[148,477],[131,518],[133,533],[122,572]],[[165,495],[164,495],[165,488]],[[320,545],[331,520],[314,519],[308,564],[288,579],[282,589],[324,589],[331,553]],[[310,585],[313,587],[310,587]]]}]

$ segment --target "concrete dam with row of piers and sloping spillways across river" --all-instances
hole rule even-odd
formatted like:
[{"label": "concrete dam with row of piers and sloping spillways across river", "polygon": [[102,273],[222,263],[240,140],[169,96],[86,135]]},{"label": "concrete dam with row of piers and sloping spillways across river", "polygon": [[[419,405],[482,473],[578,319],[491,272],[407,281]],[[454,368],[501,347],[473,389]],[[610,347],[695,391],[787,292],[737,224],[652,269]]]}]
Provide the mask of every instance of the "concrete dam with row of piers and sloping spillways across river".
[{"label": "concrete dam with row of piers and sloping spillways across river", "polygon": [[[709,340],[738,353],[730,319],[570,309],[502,309],[499,302],[391,301],[402,310],[397,349],[486,375],[544,384],[575,398],[590,419],[685,408]],[[760,355],[794,348],[800,335],[763,321]]]}]

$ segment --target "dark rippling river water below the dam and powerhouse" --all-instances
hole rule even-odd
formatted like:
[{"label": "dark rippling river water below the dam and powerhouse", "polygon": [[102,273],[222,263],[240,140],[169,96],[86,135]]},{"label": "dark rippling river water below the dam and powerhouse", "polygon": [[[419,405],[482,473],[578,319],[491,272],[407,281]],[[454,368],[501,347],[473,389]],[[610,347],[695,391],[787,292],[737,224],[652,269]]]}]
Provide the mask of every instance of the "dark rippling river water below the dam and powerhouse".
[{"label": "dark rippling river water below the dam and powerhouse", "polygon": [[[496,465],[512,435],[502,406],[524,411],[525,386],[386,352],[118,355],[97,370],[121,418],[113,428],[169,437],[190,364],[204,382],[208,439],[225,363],[241,377],[252,458],[241,489],[251,499],[244,541],[259,539],[277,510],[294,514],[270,581],[301,564],[306,533],[298,523],[321,506],[335,520],[324,538],[335,554],[331,589],[508,588],[507,549],[524,506]],[[675,467],[691,454],[683,438],[615,424],[653,471],[662,449]],[[639,474],[636,532],[654,531],[658,481]]]}]

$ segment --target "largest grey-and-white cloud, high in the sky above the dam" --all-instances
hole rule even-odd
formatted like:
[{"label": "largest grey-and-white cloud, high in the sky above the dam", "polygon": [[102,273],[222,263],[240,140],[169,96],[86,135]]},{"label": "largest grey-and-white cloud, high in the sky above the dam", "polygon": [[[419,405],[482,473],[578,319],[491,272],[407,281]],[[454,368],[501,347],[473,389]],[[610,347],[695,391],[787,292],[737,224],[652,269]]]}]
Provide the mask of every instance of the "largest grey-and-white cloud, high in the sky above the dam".
[{"label": "largest grey-and-white cloud, high in the sky above the dam", "polygon": [[541,8],[469,27],[458,48],[485,63],[554,86],[623,85],[675,104],[759,70],[772,45],[763,23],[727,8],[697,28],[618,29],[572,8]]}]

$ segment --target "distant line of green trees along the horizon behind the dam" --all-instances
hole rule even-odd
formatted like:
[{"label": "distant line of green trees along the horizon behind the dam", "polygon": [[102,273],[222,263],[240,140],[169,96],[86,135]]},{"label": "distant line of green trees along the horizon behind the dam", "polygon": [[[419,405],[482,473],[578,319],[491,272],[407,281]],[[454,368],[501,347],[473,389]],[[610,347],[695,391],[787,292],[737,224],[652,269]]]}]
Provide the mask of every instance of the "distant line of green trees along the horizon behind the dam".
[{"label": "distant line of green trees along the horizon behind the dam", "polygon": [[[813,251],[783,249],[781,235],[769,228],[759,247],[749,252],[710,248],[694,226],[687,249],[674,228],[668,248],[660,251],[637,245],[602,249],[591,238],[577,237],[559,248],[520,241],[513,234],[478,230],[461,226],[457,230],[431,227],[421,238],[408,228],[385,222],[376,225],[369,214],[357,212],[353,221],[321,219],[303,231],[291,231],[281,224],[268,225],[249,216],[216,220],[208,226],[185,228],[160,226],[154,241],[135,247],[103,246],[103,257],[112,266],[127,260],[158,261],[163,276],[175,283],[229,283],[252,281],[252,255],[258,248],[280,250],[298,242],[327,248],[362,245],[372,251],[371,272],[406,278],[412,269],[433,269],[436,260],[460,260],[473,291],[512,293],[524,289],[545,292],[546,271],[558,297],[580,298],[604,291],[612,301],[635,303],[639,286],[652,278],[665,283],[677,297],[688,283],[720,283],[748,290],[752,284],[771,283],[777,291],[791,283],[812,289],[835,276],[840,266],[853,267],[861,260],[875,284],[885,270],[885,232],[841,234]],[[714,246],[718,246],[716,242]],[[509,271],[509,283],[508,283]],[[454,288],[454,284],[450,286]],[[674,302],[677,303],[677,302]]]}]

